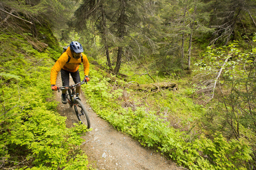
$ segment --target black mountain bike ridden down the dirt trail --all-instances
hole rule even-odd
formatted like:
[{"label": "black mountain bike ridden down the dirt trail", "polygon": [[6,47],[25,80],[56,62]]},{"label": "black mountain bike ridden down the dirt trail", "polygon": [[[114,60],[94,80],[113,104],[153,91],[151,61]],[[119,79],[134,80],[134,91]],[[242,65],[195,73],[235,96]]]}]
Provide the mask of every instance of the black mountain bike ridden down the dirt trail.
[{"label": "black mountain bike ridden down the dirt trail", "polygon": [[[78,93],[76,93],[76,91],[75,91],[77,86],[83,85],[84,83],[87,84],[86,81],[81,81],[75,85],[62,86],[62,87],[58,88],[58,91],[60,92],[61,90],[67,90],[66,97],[68,100],[68,104],[70,105],[70,107],[72,107],[74,105],[74,109],[75,109],[78,121],[81,122],[82,124],[86,125],[87,129],[89,129],[91,126],[89,115],[88,115],[83,103],[81,102],[81,100],[78,96]],[[65,88],[65,87],[68,87],[68,88]]]}]

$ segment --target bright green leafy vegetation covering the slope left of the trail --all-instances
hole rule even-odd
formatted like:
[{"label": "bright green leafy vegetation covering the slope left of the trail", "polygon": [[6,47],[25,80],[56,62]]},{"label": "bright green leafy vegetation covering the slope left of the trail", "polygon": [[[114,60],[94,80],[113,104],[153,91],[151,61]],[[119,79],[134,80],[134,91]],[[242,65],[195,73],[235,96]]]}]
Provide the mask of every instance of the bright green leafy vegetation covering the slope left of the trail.
[{"label": "bright green leafy vegetation covering the slope left of the trail", "polygon": [[87,169],[79,149],[86,126],[67,129],[50,87],[52,48],[39,53],[27,34],[0,37],[0,169]]}]

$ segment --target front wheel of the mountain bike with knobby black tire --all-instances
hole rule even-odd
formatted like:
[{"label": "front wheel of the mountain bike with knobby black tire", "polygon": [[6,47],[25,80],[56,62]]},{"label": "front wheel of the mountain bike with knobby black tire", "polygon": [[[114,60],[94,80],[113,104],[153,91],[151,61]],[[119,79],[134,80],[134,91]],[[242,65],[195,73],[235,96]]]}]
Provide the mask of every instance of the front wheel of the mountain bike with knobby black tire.
[{"label": "front wheel of the mountain bike with knobby black tire", "polygon": [[81,121],[81,123],[83,123],[84,125],[86,125],[87,129],[89,129],[91,126],[90,119],[83,103],[79,99],[76,99],[75,106],[76,116],[78,120]]}]

